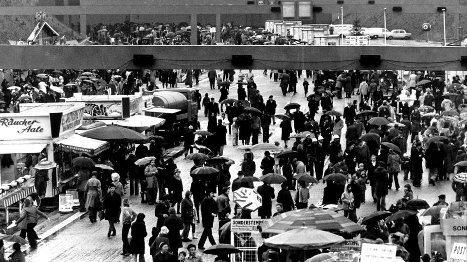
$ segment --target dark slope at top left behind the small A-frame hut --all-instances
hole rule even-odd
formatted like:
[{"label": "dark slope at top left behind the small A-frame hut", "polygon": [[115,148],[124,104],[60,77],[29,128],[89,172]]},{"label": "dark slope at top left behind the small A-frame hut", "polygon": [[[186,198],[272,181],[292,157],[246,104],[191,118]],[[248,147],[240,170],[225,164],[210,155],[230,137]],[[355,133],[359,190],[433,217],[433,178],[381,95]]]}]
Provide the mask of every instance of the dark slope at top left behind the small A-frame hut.
[{"label": "dark slope at top left behind the small A-frame hut", "polygon": [[[34,6],[36,4],[35,0],[0,0],[0,6]],[[37,11],[40,11],[40,7]],[[67,39],[74,39],[74,36],[78,35],[53,16],[48,16],[46,21],[57,33],[65,35]],[[35,26],[34,16],[0,16],[0,44],[8,45],[8,40],[18,41],[19,38],[26,40]]]}]

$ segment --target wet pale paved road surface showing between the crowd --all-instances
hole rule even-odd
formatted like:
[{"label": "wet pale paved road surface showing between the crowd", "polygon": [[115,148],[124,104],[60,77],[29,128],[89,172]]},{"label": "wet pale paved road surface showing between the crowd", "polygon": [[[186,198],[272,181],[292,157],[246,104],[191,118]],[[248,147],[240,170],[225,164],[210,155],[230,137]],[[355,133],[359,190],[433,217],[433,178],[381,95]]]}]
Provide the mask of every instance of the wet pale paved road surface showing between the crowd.
[{"label": "wet pale paved road surface showing between the crowd", "polygon": [[[295,96],[291,96],[288,94],[287,97],[282,97],[281,90],[279,88],[278,82],[273,82],[269,80],[268,76],[262,75],[262,70],[255,70],[255,82],[257,83],[258,90],[261,91],[263,98],[266,100],[269,95],[273,95],[274,99],[277,101],[277,114],[283,113],[283,107],[290,101],[297,102],[304,105],[303,109],[307,109],[307,102],[305,98],[305,94],[302,88],[303,78],[299,79],[299,83],[297,84],[298,94]],[[302,76],[303,77],[303,76]],[[236,79],[236,78],[235,78]],[[209,82],[206,80],[201,81],[199,87],[202,89],[201,93],[204,97],[204,93],[207,92],[211,97],[216,98],[216,101],[219,98],[218,90],[210,90],[209,89]],[[312,88],[310,88],[312,90]],[[236,87],[230,89],[230,94],[232,98],[237,98],[236,95]],[[353,96],[352,99],[357,99],[357,96]],[[343,106],[346,104],[345,99],[335,99],[334,100],[334,110],[343,112]],[[207,119],[204,117],[203,111],[199,114],[201,127],[206,128],[207,126]],[[316,119],[319,119],[321,115],[317,115]],[[281,141],[280,140],[280,128],[279,128],[279,121],[276,122],[276,125],[271,125],[270,131],[272,132],[272,136],[270,137],[269,141],[272,143],[274,141]],[[345,134],[345,127],[342,130],[342,133]],[[236,161],[231,167],[231,174],[232,180],[236,177],[238,170],[240,169],[239,163],[242,159],[243,150],[237,150],[232,144],[229,142],[231,141],[231,136],[227,137],[228,143],[224,149],[224,155],[232,158]],[[345,148],[344,139],[341,140],[342,148]],[[291,143],[290,143],[291,144]],[[281,145],[283,142],[281,141]],[[256,170],[256,176],[261,175],[261,170],[259,169],[259,163],[262,159],[262,151],[255,152],[255,162],[258,169]],[[176,160],[176,164],[181,169],[181,177],[183,181],[184,190],[190,188],[191,184],[191,177],[189,175],[189,169],[193,165],[192,161],[183,160],[182,157],[179,157]],[[326,166],[326,164],[324,165]],[[414,197],[426,199],[429,203],[434,203],[437,201],[437,197],[439,194],[446,194],[447,200],[451,201],[454,199],[454,193],[450,188],[449,181],[443,181],[433,187],[428,185],[427,182],[427,175],[428,172],[424,173],[424,179],[421,188],[413,188]],[[399,178],[401,175],[399,175]],[[401,179],[400,179],[401,180]],[[257,183],[257,182],[256,182]],[[400,181],[401,187],[405,184],[403,181]],[[255,186],[260,185],[261,183],[255,184]],[[317,203],[323,197],[323,188],[324,185],[322,183],[318,185],[314,185],[311,189],[311,199],[310,203]],[[280,190],[279,185],[274,186],[274,190],[277,193]],[[357,214],[359,216],[372,213],[376,211],[376,204],[371,201],[370,193],[366,193],[366,203],[361,205],[361,208],[358,210]],[[403,195],[403,190],[395,191],[390,190],[387,199],[388,207],[391,203],[395,203],[398,198],[401,198]],[[146,228],[148,231],[148,237],[146,237],[146,243],[150,237],[151,229],[156,225],[156,218],[154,216],[154,206],[148,206],[145,204],[140,203],[140,197],[134,197],[126,195],[129,197],[131,206],[135,210],[136,213],[145,213],[146,214]],[[232,199],[232,193],[231,193]],[[274,200],[275,201],[275,200]],[[232,204],[232,201],[231,201]],[[274,204],[274,203],[273,203]],[[274,206],[274,205],[273,205]],[[253,213],[253,216],[257,216],[257,213]],[[216,222],[215,222],[216,223]],[[36,250],[28,251],[29,254],[26,257],[26,260],[29,262],[46,262],[46,261],[130,261],[130,259],[124,258],[120,255],[122,252],[122,241],[121,241],[121,224],[116,225],[117,229],[117,236],[112,237],[111,239],[107,238],[107,231],[108,231],[108,223],[107,221],[97,222],[95,224],[91,224],[89,219],[86,217],[68,229],[63,230],[62,232],[58,233],[56,236],[50,238],[47,241],[39,243],[39,246]],[[214,229],[217,229],[217,225],[215,224]],[[214,231],[214,230],[213,230]],[[198,238],[200,237],[202,232],[201,224],[197,225],[196,228],[196,235]],[[41,232],[38,232],[39,234]],[[214,234],[216,241],[216,233]],[[187,246],[189,243],[184,243],[184,247]],[[205,245],[208,247],[209,243]],[[23,248],[27,248],[25,245]],[[181,251],[181,249],[180,249]],[[149,255],[148,246],[146,244],[146,261],[151,261],[152,258]],[[204,255],[203,260],[205,262],[212,262],[214,261],[214,256]]]}]

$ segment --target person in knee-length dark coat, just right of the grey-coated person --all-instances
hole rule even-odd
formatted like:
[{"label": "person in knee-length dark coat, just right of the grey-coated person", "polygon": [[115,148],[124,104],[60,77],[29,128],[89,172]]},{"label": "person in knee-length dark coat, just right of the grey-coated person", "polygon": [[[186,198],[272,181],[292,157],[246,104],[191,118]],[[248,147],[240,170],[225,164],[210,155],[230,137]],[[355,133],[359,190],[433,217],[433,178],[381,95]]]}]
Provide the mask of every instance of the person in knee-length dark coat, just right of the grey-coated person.
[{"label": "person in knee-length dark coat, just right of the grey-coated person", "polygon": [[114,224],[119,220],[120,207],[122,206],[122,197],[120,194],[115,193],[114,183],[109,185],[109,190],[102,202],[102,211],[106,213],[106,220],[108,221],[107,237],[110,237],[110,235],[115,236],[117,233]]}]

